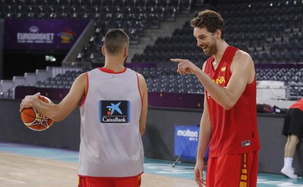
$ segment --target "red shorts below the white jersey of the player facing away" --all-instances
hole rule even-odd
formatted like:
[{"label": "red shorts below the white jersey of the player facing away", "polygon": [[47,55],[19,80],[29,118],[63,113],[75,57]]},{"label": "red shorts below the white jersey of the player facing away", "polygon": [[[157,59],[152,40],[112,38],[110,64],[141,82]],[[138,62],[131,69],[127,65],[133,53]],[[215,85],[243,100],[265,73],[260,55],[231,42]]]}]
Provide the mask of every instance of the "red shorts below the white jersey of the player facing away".
[{"label": "red shorts below the white jersey of the player facing away", "polygon": [[141,174],[134,177],[83,177],[78,187],[140,187]]}]

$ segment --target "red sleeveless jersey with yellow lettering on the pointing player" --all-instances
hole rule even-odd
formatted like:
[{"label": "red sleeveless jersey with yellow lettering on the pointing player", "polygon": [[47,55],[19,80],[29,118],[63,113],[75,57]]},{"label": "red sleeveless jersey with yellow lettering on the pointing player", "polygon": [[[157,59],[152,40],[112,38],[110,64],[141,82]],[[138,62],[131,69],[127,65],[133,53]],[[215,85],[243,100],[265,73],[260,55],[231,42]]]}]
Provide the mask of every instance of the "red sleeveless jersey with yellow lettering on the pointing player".
[{"label": "red sleeveless jersey with yellow lettering on the pointing player", "polygon": [[[204,72],[219,86],[227,86],[232,72],[231,63],[238,49],[228,46],[218,67],[214,70],[211,56],[206,61]],[[209,117],[212,125],[212,137],[209,156],[223,154],[248,153],[259,150],[259,136],[256,112],[256,80],[246,88],[236,104],[225,110],[205,90]]]}]

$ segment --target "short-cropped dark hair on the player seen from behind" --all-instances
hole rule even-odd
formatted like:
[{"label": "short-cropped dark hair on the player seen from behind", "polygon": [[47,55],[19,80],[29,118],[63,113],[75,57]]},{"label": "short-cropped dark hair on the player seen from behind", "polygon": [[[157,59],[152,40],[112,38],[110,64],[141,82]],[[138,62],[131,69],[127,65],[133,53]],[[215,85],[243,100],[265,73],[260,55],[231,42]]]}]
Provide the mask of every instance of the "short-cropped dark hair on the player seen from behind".
[{"label": "short-cropped dark hair on the player seen from behind", "polygon": [[104,46],[106,52],[118,54],[129,46],[129,37],[121,29],[112,29],[105,34]]}]

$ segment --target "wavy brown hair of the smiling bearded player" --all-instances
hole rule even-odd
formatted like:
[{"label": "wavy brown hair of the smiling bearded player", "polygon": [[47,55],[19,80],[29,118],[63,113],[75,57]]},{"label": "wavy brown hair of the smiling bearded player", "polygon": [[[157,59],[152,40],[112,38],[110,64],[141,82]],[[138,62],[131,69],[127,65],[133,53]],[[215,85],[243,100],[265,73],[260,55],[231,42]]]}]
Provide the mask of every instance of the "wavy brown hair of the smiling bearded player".
[{"label": "wavy brown hair of the smiling bearded player", "polygon": [[221,39],[224,39],[225,25],[221,15],[212,10],[203,10],[190,21],[192,28],[206,28],[210,33],[215,33],[216,30],[221,30]]}]

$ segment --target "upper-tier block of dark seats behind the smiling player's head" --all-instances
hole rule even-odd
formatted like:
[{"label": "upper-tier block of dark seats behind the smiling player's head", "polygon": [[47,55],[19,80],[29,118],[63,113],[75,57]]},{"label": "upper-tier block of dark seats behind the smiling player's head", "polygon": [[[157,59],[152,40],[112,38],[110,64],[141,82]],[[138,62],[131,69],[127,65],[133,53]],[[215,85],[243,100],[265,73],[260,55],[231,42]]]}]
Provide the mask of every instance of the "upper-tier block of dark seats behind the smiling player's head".
[{"label": "upper-tier block of dark seats behind the smiling player's head", "polygon": [[[303,1],[296,0],[218,0],[210,9],[225,21],[229,45],[248,51],[255,63],[299,63],[303,61]],[[175,56],[204,62],[196,46],[189,20],[172,37],[159,37],[133,62],[168,62]]]}]

